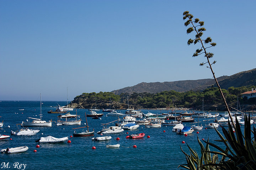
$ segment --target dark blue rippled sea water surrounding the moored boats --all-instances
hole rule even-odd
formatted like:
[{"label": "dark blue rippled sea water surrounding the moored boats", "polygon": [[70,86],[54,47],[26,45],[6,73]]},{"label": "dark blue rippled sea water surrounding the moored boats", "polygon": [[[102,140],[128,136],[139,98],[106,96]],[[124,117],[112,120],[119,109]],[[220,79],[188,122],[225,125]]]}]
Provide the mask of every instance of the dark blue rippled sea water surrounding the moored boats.
[{"label": "dark blue rippled sea water surrounding the moored boats", "polygon": [[[58,114],[49,114],[47,111],[55,110],[54,107],[57,106],[57,103],[60,106],[66,104],[65,101],[42,101],[42,103],[42,120],[46,121],[57,121]],[[24,110],[20,111],[19,109]],[[34,136],[11,136],[12,140],[9,138],[9,140],[0,141],[0,149],[19,146],[28,146],[29,148],[23,153],[0,154],[0,169],[17,169],[17,166],[14,166],[17,163],[21,165],[21,169],[24,169],[22,164],[26,164],[26,170],[177,170],[178,165],[186,163],[185,155],[181,152],[180,146],[188,153],[188,147],[186,144],[182,144],[182,141],[185,141],[197,153],[200,153],[197,136],[199,139],[207,139],[209,137],[210,142],[213,143],[216,143],[214,140],[219,139],[214,129],[203,128],[203,130],[199,131],[199,134],[196,134],[196,131],[194,131],[192,134],[184,136],[172,132],[172,126],[145,128],[143,125],[140,125],[137,130],[125,130],[120,134],[108,135],[112,136],[110,141],[92,141],[92,137],[100,136],[98,134],[88,137],[70,137],[74,132],[72,128],[85,126],[85,112],[89,113],[88,109],[74,109],[74,111],[69,111],[69,113],[76,114],[76,111],[82,119],[81,125],[57,126],[56,123],[53,123],[52,127],[30,127],[30,129],[39,129],[40,131]],[[118,112],[124,113],[125,110],[118,110]],[[167,113],[165,110],[142,110],[142,112],[145,114],[148,112],[155,114]],[[102,129],[101,124],[117,119],[116,117],[106,117],[107,113],[103,113],[104,115],[101,119],[87,118],[87,123],[90,126],[89,131],[92,129],[95,132],[100,131]],[[215,114],[216,111],[210,113]],[[0,121],[4,121],[4,126],[0,128],[0,134],[10,135],[11,130],[17,130],[16,124],[26,121],[28,117],[40,118],[39,114],[40,101],[0,101]],[[205,123],[208,124],[212,121],[203,121],[202,125],[204,126]],[[191,125],[190,123],[185,124],[187,126]],[[243,129],[242,126],[241,128]],[[222,134],[221,128],[218,129]],[[84,130],[87,130],[87,128]],[[126,139],[127,135],[137,133],[145,133],[145,137],[142,139]],[[67,136],[71,143],[39,143],[40,147],[36,148],[38,143],[35,141],[40,137],[49,135],[57,138]],[[150,138],[147,138],[147,136],[150,136]],[[116,140],[117,137],[120,140]],[[115,144],[120,144],[120,148],[106,148],[106,145]],[[137,148],[133,148],[133,145],[136,145]],[[96,149],[92,149],[93,146]],[[34,149],[37,152],[33,152]],[[9,163],[10,168],[4,168],[4,163]]]}]

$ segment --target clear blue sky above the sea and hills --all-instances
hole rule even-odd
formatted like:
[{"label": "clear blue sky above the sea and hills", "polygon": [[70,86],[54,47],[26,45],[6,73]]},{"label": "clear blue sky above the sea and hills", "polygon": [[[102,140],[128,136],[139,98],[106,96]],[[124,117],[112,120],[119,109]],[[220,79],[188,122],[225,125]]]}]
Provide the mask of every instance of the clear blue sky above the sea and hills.
[{"label": "clear blue sky above the sea and hills", "polygon": [[192,57],[184,11],[217,43],[216,77],[256,68],[255,10],[255,0],[0,0],[0,100],[212,78]]}]

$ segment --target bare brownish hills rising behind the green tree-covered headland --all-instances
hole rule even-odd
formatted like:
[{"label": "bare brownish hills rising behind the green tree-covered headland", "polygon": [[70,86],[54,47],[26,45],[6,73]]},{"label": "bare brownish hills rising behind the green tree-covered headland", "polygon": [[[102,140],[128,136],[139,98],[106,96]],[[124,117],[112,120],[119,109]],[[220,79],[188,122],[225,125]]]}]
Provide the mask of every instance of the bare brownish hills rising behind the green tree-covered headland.
[{"label": "bare brownish hills rising behind the green tree-covered headland", "polygon": [[[217,78],[220,87],[222,89],[228,89],[231,86],[241,87],[241,86],[251,86],[256,85],[256,68],[248,71],[240,72],[231,76],[222,76]],[[199,79],[199,80],[182,80],[182,81],[171,81],[171,82],[155,82],[155,83],[139,83],[132,87],[124,87],[119,90],[113,90],[116,95],[120,95],[122,93],[132,94],[136,93],[158,93],[162,91],[170,91],[175,90],[178,92],[184,91],[197,91],[204,90],[211,86],[216,87],[216,83],[214,79]]]}]

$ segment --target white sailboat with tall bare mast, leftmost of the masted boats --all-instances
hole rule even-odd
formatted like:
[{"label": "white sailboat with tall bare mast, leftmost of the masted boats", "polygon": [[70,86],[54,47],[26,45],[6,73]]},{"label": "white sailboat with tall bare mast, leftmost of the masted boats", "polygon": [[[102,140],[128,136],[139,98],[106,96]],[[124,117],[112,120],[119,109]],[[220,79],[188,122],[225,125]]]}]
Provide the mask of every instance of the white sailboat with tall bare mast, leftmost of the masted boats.
[{"label": "white sailboat with tall bare mast, leftmost of the masted boats", "polygon": [[45,121],[45,120],[42,120],[42,100],[41,100],[41,94],[40,94],[40,119],[37,119],[37,118],[30,118],[29,117],[29,120],[30,119],[33,119],[32,122],[30,121],[27,121],[27,122],[24,122],[22,121],[22,126],[52,126],[52,120],[50,121]]}]

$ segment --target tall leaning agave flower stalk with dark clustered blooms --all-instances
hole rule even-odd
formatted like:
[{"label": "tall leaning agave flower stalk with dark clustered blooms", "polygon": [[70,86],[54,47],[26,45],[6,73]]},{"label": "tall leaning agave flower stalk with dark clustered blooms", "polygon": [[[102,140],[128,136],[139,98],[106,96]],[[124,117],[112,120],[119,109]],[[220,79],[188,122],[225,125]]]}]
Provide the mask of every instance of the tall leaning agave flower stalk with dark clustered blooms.
[{"label": "tall leaning agave flower stalk with dark clustered blooms", "polygon": [[[210,58],[212,58],[214,54],[211,53],[211,52],[207,52],[207,49],[210,48],[210,47],[216,46],[216,43],[212,42],[212,38],[210,38],[209,36],[206,39],[203,39],[203,37],[202,37],[203,32],[206,31],[206,28],[203,27],[204,21],[200,21],[198,18],[195,18],[194,20],[192,20],[193,17],[194,16],[192,14],[190,14],[188,11],[183,12],[183,20],[187,19],[187,21],[185,22],[185,26],[187,27],[189,25],[192,25],[192,27],[189,27],[187,29],[187,34],[190,34],[192,32],[196,32],[195,38],[194,39],[189,39],[187,41],[187,44],[188,45],[193,44],[193,43],[194,43],[194,45],[196,45],[197,43],[200,44],[200,48],[196,50],[196,52],[193,54],[193,57],[196,57],[196,56],[201,55],[201,54],[203,54],[204,57],[206,57],[207,62],[200,63],[200,66],[204,66],[205,64],[208,64],[207,68],[210,68],[210,70],[213,74],[213,78],[214,78],[214,80],[217,84],[217,87],[218,87],[218,89],[220,91],[220,94],[223,98],[223,101],[225,103],[226,109],[228,110],[229,116],[231,118],[231,114],[229,112],[228,104],[226,103],[225,97],[222,93],[222,90],[220,88],[218,80],[215,77],[215,74],[213,72],[212,64],[215,64],[216,61],[214,60],[213,62],[210,62]],[[207,47],[205,47],[205,45],[207,45]],[[234,121],[233,121],[232,118],[231,118],[231,121],[232,121],[232,124],[234,126]]]}]

